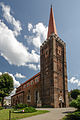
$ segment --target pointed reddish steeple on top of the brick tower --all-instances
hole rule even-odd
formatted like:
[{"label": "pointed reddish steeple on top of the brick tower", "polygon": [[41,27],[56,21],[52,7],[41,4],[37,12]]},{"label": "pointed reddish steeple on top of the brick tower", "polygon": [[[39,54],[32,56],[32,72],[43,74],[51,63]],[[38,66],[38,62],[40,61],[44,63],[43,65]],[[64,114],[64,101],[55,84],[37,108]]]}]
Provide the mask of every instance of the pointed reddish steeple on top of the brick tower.
[{"label": "pointed reddish steeple on top of the brick tower", "polygon": [[51,10],[50,10],[50,19],[49,19],[49,25],[48,25],[47,39],[48,39],[48,37],[50,36],[51,33],[55,33],[57,35],[57,30],[56,30],[56,24],[55,24],[52,5],[51,5]]}]

